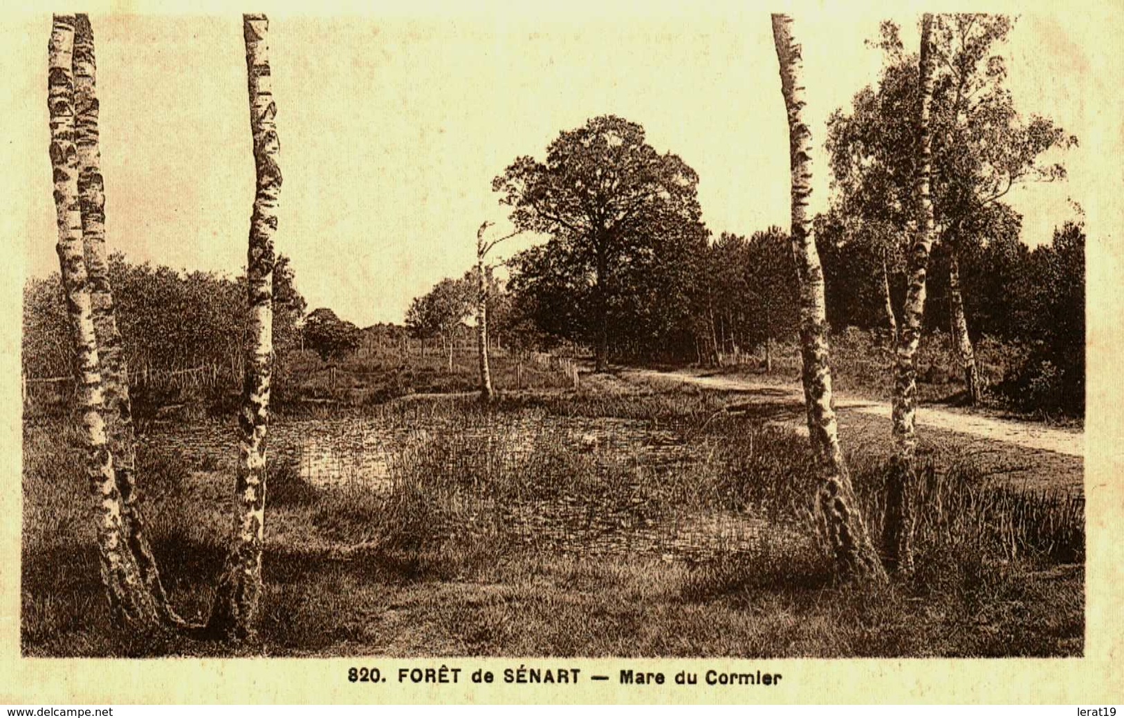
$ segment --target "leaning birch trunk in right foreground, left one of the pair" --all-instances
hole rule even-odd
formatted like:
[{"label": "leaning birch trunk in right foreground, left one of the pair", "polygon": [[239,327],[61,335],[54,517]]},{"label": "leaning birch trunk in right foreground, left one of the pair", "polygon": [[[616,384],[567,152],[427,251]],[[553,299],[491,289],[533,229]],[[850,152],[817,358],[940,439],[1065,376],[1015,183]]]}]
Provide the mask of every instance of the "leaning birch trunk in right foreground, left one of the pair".
[{"label": "leaning birch trunk in right foreground, left one of the pair", "polygon": [[788,110],[792,174],[792,255],[800,285],[800,354],[804,363],[808,437],[822,473],[816,511],[841,572],[860,580],[885,581],[886,572],[867,535],[843,462],[832,401],[824,273],[808,211],[808,197],[812,194],[812,131],[804,118],[801,47],[792,36],[792,20],[788,16],[773,15],[772,29],[777,60],[780,63],[781,92]]}]

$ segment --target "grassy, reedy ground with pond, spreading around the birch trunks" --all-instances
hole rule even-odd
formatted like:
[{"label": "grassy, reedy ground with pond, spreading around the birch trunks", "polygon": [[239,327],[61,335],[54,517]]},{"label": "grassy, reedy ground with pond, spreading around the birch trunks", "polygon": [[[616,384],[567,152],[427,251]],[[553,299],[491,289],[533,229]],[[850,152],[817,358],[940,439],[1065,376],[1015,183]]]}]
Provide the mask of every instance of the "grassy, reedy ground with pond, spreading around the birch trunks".
[{"label": "grassy, reedy ground with pond, spreading around the birch trunks", "polygon": [[[726,411],[725,396],[589,379],[487,408],[456,397],[362,407],[348,430],[407,437],[384,447],[379,482],[310,472],[299,442],[318,422],[280,417],[260,640],[237,652],[1081,654],[1079,498],[1010,491],[954,443],[930,442],[916,575],[840,584],[812,529],[804,439]],[[153,424],[140,445],[155,553],[187,617],[206,614],[224,555],[229,429]],[[75,438],[60,418],[25,424],[25,654],[229,652],[109,627]],[[849,458],[877,530],[883,457],[861,444]]]}]

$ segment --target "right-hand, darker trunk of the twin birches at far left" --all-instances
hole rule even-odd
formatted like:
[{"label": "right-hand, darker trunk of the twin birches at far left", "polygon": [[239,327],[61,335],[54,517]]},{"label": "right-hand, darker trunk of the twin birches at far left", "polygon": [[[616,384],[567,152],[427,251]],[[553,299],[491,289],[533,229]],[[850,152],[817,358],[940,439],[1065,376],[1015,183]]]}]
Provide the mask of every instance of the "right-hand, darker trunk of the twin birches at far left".
[{"label": "right-hand, darker trunk of the twin birches at far left", "polygon": [[78,191],[82,209],[82,244],[90,288],[90,305],[101,384],[105,390],[105,420],[109,452],[114,458],[117,490],[121,497],[121,524],[125,538],[140,578],[152,593],[162,618],[180,622],[167,602],[156,560],[148,546],[140,496],[136,485],[136,442],[133,408],[129,401],[128,367],[114,312],[114,293],[106,256],[106,196],[101,176],[101,151],[98,131],[97,62],[93,28],[84,13],[75,17],[74,30],[74,110],[78,147]]}]

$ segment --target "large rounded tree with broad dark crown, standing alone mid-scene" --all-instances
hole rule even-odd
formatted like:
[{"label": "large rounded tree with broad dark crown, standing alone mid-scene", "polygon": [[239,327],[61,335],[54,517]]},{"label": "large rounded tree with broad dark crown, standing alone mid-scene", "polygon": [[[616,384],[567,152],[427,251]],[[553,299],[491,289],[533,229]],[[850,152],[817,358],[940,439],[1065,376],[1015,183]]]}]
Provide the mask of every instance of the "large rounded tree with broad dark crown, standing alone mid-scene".
[{"label": "large rounded tree with broad dark crown, standing alone mid-scene", "polygon": [[511,262],[511,287],[532,296],[523,305],[544,331],[593,344],[604,367],[610,335],[627,340],[644,326],[659,342],[680,324],[691,255],[707,237],[698,175],[647,144],[642,126],[590,119],[562,131],[545,162],[516,158],[492,189],[517,229],[550,236]]}]

